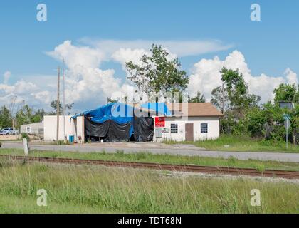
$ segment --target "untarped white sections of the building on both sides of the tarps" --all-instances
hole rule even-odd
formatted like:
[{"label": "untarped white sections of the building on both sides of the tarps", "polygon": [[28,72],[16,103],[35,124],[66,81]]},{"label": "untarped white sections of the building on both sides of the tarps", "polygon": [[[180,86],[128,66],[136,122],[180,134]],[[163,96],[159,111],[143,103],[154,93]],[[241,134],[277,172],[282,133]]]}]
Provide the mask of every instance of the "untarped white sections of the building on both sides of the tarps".
[{"label": "untarped white sections of the building on both sides of the tarps", "polygon": [[[136,106],[135,106],[136,107]],[[219,120],[223,116],[211,103],[167,103],[170,115],[154,116],[154,142],[162,140],[197,141],[219,138]],[[147,110],[143,109],[145,113]],[[77,142],[85,139],[84,117],[59,118],[59,140],[70,135]],[[64,125],[63,125],[64,122]],[[56,140],[56,115],[46,115],[43,121],[44,140]],[[65,127],[64,127],[65,126]],[[65,133],[64,133],[65,132]]]}]

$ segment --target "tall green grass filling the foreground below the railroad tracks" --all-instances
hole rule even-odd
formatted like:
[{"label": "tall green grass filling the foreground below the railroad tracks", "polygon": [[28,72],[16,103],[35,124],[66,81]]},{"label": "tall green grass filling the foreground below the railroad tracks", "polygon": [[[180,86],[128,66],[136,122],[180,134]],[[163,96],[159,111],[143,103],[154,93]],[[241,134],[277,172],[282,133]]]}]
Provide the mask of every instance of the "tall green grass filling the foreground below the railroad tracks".
[{"label": "tall green grass filling the foreground below the railroad tracks", "polygon": [[[299,185],[162,172],[0,160],[0,212],[298,213]],[[36,191],[48,207],[36,206]],[[261,191],[252,207],[251,190]]]}]

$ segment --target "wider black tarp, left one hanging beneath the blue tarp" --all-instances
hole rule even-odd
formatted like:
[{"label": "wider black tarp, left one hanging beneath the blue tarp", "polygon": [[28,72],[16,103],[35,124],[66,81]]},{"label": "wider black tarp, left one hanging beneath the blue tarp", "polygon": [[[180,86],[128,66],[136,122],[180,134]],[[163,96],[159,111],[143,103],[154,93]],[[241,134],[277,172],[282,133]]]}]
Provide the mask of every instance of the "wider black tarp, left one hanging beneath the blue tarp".
[{"label": "wider black tarp, left one hanging beneath the blue tarp", "polygon": [[94,123],[88,118],[84,118],[85,141],[92,142],[127,142],[130,140],[131,123],[119,124],[113,120],[104,123]]}]

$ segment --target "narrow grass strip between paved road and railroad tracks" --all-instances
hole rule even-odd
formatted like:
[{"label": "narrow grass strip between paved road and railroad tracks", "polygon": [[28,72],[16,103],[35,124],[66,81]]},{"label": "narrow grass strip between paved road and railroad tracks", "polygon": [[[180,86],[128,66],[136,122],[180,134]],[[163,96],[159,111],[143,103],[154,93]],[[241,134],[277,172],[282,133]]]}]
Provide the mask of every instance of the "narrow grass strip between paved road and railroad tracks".
[{"label": "narrow grass strip between paved road and railroad tracks", "polygon": [[[19,149],[1,149],[0,155],[23,155],[23,150]],[[36,157],[63,157],[88,160],[112,160],[124,162],[155,162],[177,165],[203,165],[203,166],[221,166],[221,167],[240,167],[253,168],[256,170],[293,170],[299,171],[299,164],[296,162],[276,162],[260,160],[237,160],[234,157],[229,159],[216,157],[189,157],[179,155],[153,155],[148,152],[137,152],[125,154],[123,150],[116,153],[103,152],[53,152],[32,150],[30,156]]]}]

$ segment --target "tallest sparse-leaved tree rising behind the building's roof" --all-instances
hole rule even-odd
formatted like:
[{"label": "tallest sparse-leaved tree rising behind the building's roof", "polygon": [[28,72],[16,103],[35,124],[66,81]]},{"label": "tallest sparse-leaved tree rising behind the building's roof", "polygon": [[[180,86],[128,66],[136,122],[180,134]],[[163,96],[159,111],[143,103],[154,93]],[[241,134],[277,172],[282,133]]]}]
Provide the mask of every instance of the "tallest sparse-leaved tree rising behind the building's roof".
[{"label": "tallest sparse-leaved tree rising behind the building's roof", "polygon": [[130,80],[148,98],[157,93],[185,90],[189,78],[180,70],[179,59],[169,60],[169,53],[162,46],[152,45],[152,56],[142,56],[140,64],[126,63]]}]

